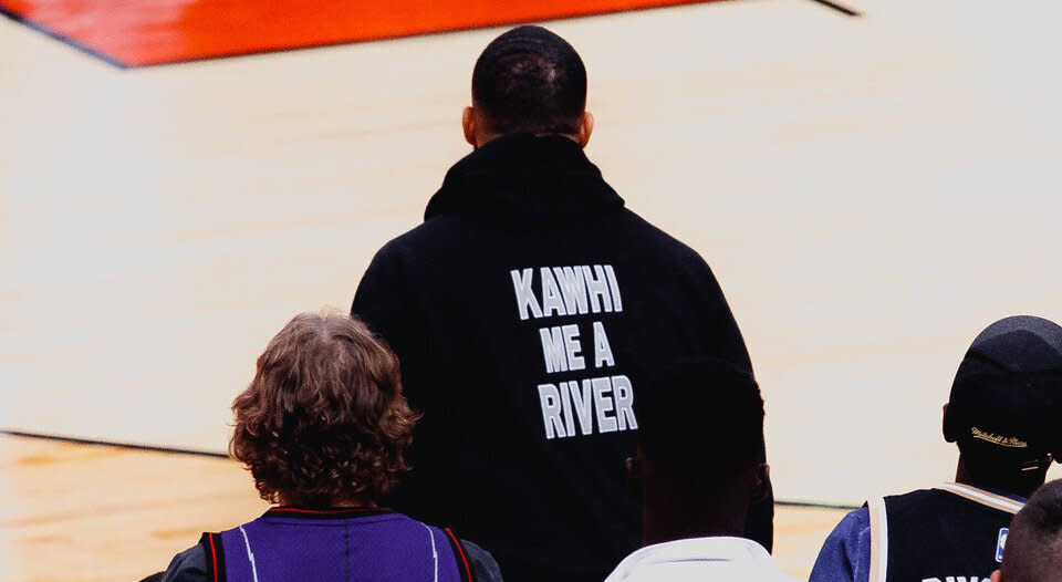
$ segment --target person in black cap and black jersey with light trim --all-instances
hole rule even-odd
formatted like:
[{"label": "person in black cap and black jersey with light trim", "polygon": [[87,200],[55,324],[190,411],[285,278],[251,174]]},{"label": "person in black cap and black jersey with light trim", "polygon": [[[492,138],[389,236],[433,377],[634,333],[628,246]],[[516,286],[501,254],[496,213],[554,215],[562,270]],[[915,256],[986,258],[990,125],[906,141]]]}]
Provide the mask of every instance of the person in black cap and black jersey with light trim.
[{"label": "person in black cap and black jersey with light trim", "polygon": [[870,500],[826,539],[811,582],[987,581],[1008,527],[1062,453],[1062,328],[1000,320],[967,351],[944,409],[954,484]]}]

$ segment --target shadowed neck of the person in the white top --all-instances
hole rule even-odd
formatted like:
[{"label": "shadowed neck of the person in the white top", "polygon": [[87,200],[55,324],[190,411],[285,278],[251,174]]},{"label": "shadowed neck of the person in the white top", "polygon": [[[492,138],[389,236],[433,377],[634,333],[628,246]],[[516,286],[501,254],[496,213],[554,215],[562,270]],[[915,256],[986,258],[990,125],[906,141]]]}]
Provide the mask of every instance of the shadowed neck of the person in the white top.
[{"label": "shadowed neck of the person in the white top", "polygon": [[745,536],[749,505],[767,466],[735,469],[655,466],[639,456],[644,545],[689,538]]}]

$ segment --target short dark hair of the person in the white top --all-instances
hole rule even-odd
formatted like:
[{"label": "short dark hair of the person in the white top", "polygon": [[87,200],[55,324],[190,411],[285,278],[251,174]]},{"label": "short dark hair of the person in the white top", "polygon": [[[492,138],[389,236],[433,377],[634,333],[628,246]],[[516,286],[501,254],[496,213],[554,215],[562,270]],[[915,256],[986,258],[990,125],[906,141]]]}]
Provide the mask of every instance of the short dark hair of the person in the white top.
[{"label": "short dark hair of the person in the white top", "polygon": [[654,464],[686,471],[759,460],[763,398],[750,372],[718,358],[691,358],[650,374],[647,384],[635,412],[642,450]]}]

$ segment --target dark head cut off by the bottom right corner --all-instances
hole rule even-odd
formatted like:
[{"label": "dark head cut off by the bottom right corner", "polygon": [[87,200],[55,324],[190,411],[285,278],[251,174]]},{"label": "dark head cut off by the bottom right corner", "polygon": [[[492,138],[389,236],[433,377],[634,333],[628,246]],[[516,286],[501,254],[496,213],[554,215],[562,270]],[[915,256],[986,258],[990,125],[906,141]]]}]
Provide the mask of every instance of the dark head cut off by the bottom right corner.
[{"label": "dark head cut off by the bottom right corner", "polygon": [[1062,581],[1062,480],[1029,499],[1010,522],[1003,564],[992,582]]}]

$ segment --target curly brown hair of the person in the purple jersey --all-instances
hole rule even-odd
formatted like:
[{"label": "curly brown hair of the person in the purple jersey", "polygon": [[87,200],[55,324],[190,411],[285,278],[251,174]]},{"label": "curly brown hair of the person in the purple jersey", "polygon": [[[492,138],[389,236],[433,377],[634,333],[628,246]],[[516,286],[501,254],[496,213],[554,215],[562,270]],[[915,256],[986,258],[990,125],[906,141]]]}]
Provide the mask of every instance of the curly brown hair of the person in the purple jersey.
[{"label": "curly brown hair of the person in the purple jersey", "polygon": [[229,451],[262,499],[301,506],[383,498],[407,470],[419,416],[402,394],[398,358],[357,319],[295,315],[232,402]]}]

